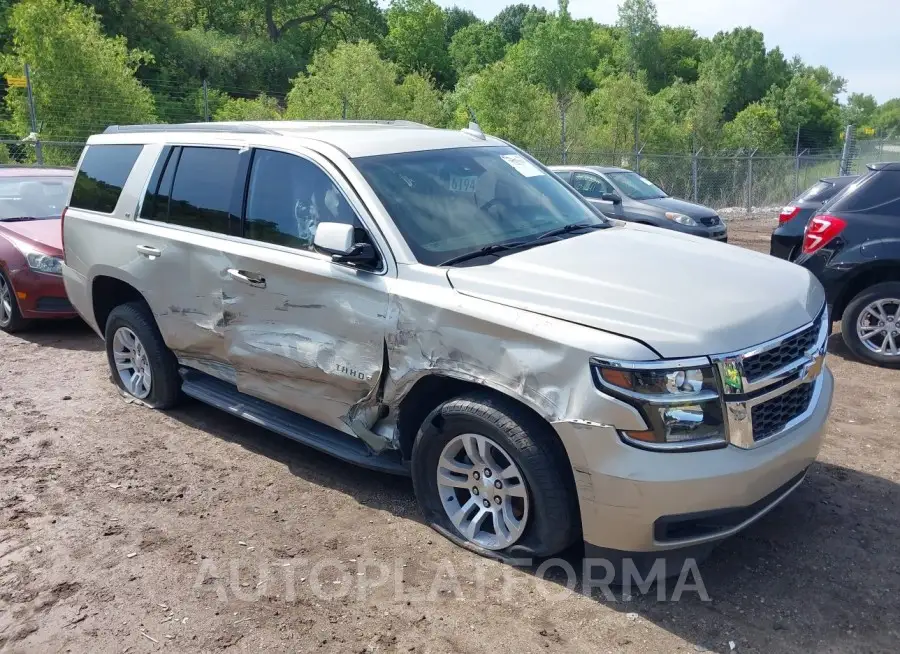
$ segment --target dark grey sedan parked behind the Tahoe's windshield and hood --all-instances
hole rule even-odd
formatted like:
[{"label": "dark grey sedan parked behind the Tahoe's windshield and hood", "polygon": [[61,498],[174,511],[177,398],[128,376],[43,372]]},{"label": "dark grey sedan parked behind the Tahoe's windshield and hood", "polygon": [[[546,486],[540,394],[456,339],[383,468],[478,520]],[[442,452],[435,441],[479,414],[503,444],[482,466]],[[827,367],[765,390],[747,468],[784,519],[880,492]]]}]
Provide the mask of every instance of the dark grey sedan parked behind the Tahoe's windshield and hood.
[{"label": "dark grey sedan parked behind the Tahoe's windshield and hood", "polygon": [[715,210],[673,198],[634,171],[603,166],[550,169],[611,218],[728,240],[728,230]]}]

